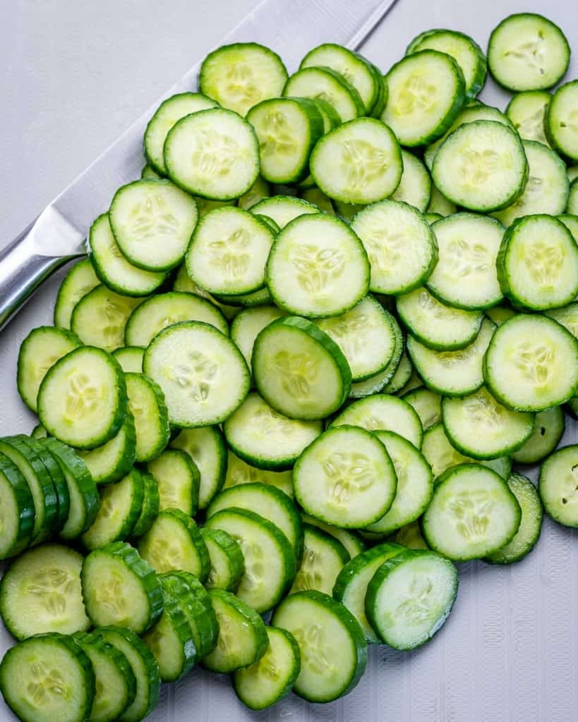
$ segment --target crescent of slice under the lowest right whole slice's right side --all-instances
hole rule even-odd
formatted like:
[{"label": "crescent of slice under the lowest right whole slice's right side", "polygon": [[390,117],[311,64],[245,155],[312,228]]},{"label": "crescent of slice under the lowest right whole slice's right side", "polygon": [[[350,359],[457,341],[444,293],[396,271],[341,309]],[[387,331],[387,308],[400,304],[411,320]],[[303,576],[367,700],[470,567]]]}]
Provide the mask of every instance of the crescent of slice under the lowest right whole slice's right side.
[{"label": "crescent of slice under the lowest right whole slice's right side", "polygon": [[519,562],[532,551],[542,529],[542,503],[534,484],[522,474],[512,474],[508,479],[508,486],[518,500],[522,521],[512,541],[486,557],[485,561],[491,564]]}]

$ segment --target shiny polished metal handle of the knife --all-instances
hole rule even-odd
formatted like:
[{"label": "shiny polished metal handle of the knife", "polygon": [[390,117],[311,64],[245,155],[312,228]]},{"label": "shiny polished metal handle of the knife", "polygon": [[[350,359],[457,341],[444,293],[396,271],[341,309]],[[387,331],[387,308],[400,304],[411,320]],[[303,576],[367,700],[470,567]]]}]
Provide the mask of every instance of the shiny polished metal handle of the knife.
[{"label": "shiny polished metal handle of the knife", "polygon": [[31,223],[0,252],[0,331],[48,276],[79,256],[39,256],[32,238],[34,225]]}]

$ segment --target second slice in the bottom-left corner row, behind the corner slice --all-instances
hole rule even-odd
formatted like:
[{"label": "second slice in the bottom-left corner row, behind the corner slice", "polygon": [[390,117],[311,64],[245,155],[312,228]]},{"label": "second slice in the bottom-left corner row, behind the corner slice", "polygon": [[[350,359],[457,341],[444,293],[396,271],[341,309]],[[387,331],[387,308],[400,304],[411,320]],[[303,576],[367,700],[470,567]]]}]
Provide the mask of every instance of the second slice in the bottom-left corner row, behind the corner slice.
[{"label": "second slice in the bottom-left corner row, behind the corner slice", "polygon": [[95,673],[96,693],[90,722],[113,722],[137,694],[137,679],[129,661],[98,633],[75,634],[74,641],[85,651]]}]

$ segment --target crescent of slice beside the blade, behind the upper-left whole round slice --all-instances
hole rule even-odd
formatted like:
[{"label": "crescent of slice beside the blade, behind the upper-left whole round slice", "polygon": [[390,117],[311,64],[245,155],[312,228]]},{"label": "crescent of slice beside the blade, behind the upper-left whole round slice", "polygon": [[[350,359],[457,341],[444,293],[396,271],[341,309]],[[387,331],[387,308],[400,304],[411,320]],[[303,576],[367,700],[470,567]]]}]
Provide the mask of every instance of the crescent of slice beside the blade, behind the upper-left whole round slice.
[{"label": "crescent of slice beside the blade, behind the upper-left whole round slice", "polygon": [[166,175],[163,146],[168,131],[176,121],[180,121],[189,113],[197,113],[198,110],[207,110],[216,106],[215,100],[200,92],[181,92],[163,100],[144,131],[144,155],[147,156],[152,169],[160,175]]}]

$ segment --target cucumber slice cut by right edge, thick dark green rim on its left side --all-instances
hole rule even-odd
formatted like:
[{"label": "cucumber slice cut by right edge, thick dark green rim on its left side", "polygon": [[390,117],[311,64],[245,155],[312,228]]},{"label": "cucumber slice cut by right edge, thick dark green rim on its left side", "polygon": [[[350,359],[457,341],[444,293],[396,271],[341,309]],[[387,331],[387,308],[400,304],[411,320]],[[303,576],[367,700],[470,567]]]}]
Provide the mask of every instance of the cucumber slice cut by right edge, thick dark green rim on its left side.
[{"label": "cucumber slice cut by right edge, thick dark green rim on its left side", "polygon": [[514,221],[496,267],[501,290],[518,307],[560,308],[578,294],[578,245],[564,223],[549,215]]}]

